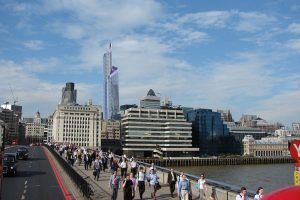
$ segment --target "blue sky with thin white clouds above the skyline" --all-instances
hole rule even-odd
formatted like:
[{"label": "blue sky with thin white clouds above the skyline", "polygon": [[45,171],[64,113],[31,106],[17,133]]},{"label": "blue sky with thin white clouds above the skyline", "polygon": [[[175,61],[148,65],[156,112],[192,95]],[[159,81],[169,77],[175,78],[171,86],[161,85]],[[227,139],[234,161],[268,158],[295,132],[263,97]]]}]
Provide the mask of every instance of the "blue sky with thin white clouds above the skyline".
[{"label": "blue sky with thin white clouds above the skyline", "polygon": [[0,102],[48,117],[66,82],[103,104],[112,43],[120,104],[153,89],[173,105],[300,122],[300,2],[0,0]]}]

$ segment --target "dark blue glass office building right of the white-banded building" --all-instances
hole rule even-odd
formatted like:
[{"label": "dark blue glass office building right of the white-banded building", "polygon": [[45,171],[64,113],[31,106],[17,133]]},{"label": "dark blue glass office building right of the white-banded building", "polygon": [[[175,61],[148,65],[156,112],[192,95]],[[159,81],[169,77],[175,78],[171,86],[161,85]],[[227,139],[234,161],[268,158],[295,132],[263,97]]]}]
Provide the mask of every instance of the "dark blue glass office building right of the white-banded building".
[{"label": "dark blue glass office building right of the white-banded building", "polygon": [[193,146],[200,148],[200,155],[240,153],[220,113],[199,108],[187,111],[186,119],[192,123]]}]

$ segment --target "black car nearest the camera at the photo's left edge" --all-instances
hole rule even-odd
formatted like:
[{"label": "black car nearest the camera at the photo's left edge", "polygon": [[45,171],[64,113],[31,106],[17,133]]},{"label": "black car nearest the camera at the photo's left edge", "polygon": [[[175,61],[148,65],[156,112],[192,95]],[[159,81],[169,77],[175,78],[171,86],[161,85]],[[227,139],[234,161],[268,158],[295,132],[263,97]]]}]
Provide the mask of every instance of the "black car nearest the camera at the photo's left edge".
[{"label": "black car nearest the camera at the photo's left edge", "polygon": [[3,175],[16,176],[17,155],[16,153],[5,153],[3,159]]}]

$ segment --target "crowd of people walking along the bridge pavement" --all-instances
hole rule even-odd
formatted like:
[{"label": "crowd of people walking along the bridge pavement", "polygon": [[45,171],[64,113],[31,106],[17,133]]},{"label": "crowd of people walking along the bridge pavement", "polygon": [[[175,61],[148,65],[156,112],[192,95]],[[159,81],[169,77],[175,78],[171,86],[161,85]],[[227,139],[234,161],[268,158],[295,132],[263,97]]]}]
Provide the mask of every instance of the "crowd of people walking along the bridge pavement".
[{"label": "crowd of people walking along the bridge pavement", "polygon": [[[124,200],[133,200],[138,191],[139,198],[143,199],[146,187],[151,189],[151,198],[157,199],[157,191],[161,188],[159,184],[158,171],[151,164],[149,171],[146,172],[144,166],[139,166],[136,160],[131,157],[127,158],[124,154],[117,159],[113,153],[103,152],[99,149],[86,149],[71,144],[52,144],[62,157],[73,166],[74,164],[84,164],[85,170],[93,170],[94,180],[99,181],[100,172],[109,169],[112,175],[109,178],[109,188],[111,189],[111,199],[116,200],[118,191],[122,187]],[[129,169],[130,168],[130,172]],[[120,171],[120,175],[118,172]],[[179,200],[192,199],[192,188],[190,181],[183,171],[176,174],[173,169],[168,173],[167,182],[170,188],[170,195],[175,198],[175,189],[177,188],[177,196]],[[148,183],[148,184],[147,184]],[[215,191],[209,197],[206,197],[206,180],[204,174],[201,174],[195,185],[198,191],[199,200],[215,200]],[[254,200],[261,200],[263,188],[259,187]],[[237,194],[236,200],[248,200],[247,190],[242,187],[240,193]]]}]

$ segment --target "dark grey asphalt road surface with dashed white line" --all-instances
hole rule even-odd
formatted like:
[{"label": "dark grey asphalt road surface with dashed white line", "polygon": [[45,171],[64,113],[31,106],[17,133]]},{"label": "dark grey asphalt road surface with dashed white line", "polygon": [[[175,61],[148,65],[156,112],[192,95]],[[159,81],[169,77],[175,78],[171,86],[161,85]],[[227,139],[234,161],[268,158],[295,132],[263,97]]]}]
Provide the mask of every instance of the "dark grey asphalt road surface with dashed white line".
[{"label": "dark grey asphalt road surface with dashed white line", "polygon": [[[5,152],[16,149],[9,148]],[[65,199],[42,147],[29,147],[29,158],[18,161],[17,176],[4,177],[2,199]]]}]

